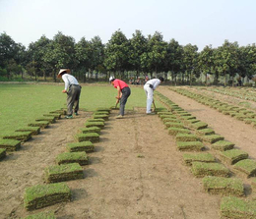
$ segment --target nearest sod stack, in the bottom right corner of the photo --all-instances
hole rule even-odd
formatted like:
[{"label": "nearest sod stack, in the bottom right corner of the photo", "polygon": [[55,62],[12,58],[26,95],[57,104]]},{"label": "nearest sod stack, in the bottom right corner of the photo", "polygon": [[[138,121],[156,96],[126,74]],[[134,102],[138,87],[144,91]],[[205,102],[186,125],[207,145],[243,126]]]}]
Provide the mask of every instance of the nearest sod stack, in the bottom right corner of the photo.
[{"label": "nearest sod stack, in the bottom right corner of the photo", "polygon": [[226,218],[256,218],[256,201],[225,196],[221,201],[221,215]]}]

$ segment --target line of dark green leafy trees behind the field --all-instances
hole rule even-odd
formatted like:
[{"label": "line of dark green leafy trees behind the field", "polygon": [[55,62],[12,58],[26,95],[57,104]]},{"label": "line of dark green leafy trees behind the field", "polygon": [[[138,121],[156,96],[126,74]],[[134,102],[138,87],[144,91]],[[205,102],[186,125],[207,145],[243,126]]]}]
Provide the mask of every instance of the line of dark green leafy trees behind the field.
[{"label": "line of dark green leafy trees behind the field", "polygon": [[[180,45],[175,39],[163,40],[159,31],[147,37],[136,30],[128,39],[120,30],[116,30],[109,41],[102,43],[99,36],[91,40],[82,37],[75,42],[72,36],[58,32],[53,39],[42,35],[26,48],[16,43],[6,32],[0,35],[0,79],[12,79],[24,74],[35,81],[38,77],[50,77],[56,81],[61,68],[69,68],[79,80],[87,82],[90,76],[110,75],[128,79],[131,73],[135,77],[142,75],[163,76],[170,74],[172,82],[177,77],[182,82],[192,83],[201,74],[212,75],[218,83],[220,77],[242,80],[251,79],[256,71],[255,43],[239,46],[237,42],[224,40],[218,48],[207,45],[198,51],[197,45]],[[225,80],[226,83],[226,80]]]}]

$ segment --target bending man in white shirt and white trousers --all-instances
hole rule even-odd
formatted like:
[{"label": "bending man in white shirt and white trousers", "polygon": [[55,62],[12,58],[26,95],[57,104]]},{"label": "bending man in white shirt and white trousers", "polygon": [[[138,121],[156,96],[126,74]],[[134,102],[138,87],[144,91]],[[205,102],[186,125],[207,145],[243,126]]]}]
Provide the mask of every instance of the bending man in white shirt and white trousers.
[{"label": "bending man in white shirt and white trousers", "polygon": [[160,77],[159,79],[153,79],[145,83],[144,90],[147,95],[147,115],[155,114],[151,111],[151,105],[153,103],[153,95],[154,90],[157,88],[158,85],[160,85],[160,82],[163,82],[163,78]]}]

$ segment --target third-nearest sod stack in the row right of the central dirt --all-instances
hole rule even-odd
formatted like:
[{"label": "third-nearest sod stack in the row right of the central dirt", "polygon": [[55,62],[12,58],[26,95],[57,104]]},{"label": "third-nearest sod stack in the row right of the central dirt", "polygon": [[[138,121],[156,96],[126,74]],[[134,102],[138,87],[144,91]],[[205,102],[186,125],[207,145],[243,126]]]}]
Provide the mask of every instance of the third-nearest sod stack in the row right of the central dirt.
[{"label": "third-nearest sod stack in the row right of the central dirt", "polygon": [[229,170],[220,163],[192,162],[192,173],[195,177],[228,177]]}]

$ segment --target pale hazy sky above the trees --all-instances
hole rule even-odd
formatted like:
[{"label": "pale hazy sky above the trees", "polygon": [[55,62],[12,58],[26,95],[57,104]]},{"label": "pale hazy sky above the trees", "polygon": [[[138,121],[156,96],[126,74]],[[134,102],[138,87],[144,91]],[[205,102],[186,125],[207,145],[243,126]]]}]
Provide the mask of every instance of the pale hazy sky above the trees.
[{"label": "pale hazy sky above the trees", "polygon": [[0,34],[26,47],[61,31],[76,42],[99,36],[103,43],[120,29],[130,39],[159,31],[164,41],[191,43],[199,51],[237,41],[256,42],[255,0],[0,0]]}]

